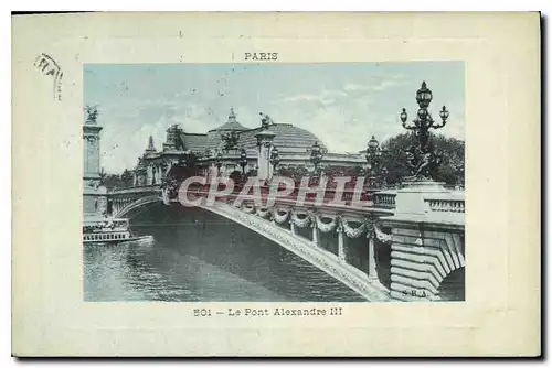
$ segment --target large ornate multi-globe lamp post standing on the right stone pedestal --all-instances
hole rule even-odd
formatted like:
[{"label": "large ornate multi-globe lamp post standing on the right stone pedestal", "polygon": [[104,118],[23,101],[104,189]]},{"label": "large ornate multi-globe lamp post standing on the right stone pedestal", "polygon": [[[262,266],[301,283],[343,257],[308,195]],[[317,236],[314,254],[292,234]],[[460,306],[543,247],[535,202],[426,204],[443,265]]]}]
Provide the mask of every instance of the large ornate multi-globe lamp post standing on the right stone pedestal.
[{"label": "large ornate multi-globe lamp post standing on the right stone pedestal", "polygon": [[414,175],[411,180],[417,178],[431,178],[429,171],[434,169],[438,164],[438,160],[435,156],[435,153],[428,145],[429,139],[429,128],[439,129],[445,127],[448,119],[448,110],[445,106],[439,111],[439,117],[442,122],[438,123],[433,120],[432,115],[427,111],[429,104],[432,102],[433,94],[425,82],[422,83],[422,87],[416,91],[416,102],[420,106],[417,110],[416,118],[412,120],[412,125],[406,125],[406,120],[408,119],[408,115],[406,113],[406,109],[403,108],[401,112],[401,121],[403,122],[403,128],[407,130],[414,131],[420,147],[414,152],[410,152],[412,155],[410,159],[410,165],[413,169]]}]

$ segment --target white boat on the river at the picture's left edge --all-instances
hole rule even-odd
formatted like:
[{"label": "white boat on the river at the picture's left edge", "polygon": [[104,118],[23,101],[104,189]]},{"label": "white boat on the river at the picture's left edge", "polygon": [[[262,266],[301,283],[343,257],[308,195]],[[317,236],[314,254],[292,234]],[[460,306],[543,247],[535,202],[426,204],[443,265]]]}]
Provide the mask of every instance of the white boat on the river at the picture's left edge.
[{"label": "white boat on the river at the picture's left edge", "polygon": [[127,242],[152,242],[150,235],[135,236],[127,218],[85,218],[83,224],[84,245],[115,245]]}]

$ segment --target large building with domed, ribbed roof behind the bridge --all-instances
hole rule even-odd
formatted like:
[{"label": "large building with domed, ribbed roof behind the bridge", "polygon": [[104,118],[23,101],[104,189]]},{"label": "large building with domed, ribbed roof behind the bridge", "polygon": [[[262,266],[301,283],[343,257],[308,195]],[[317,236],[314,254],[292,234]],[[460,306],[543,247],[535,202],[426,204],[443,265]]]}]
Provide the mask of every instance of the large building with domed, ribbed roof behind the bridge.
[{"label": "large building with domed, ribbed roof behind the bridge", "polygon": [[158,184],[171,166],[190,160],[194,161],[200,175],[220,171],[224,176],[243,171],[266,178],[274,174],[274,163],[277,172],[299,167],[311,172],[315,169],[311,162],[314,147],[321,152],[320,169],[358,167],[365,163],[360,153],[328,152],[323,142],[310,131],[291,123],[276,123],[268,116],[261,116],[262,123],[256,128],[242,126],[232,108],[226,122],[206,133],[188,133],[178,125],[171,126],[167,129],[162,151],[155,149],[150,137],[148,148],[139,159],[138,170],[135,170],[135,183]]}]

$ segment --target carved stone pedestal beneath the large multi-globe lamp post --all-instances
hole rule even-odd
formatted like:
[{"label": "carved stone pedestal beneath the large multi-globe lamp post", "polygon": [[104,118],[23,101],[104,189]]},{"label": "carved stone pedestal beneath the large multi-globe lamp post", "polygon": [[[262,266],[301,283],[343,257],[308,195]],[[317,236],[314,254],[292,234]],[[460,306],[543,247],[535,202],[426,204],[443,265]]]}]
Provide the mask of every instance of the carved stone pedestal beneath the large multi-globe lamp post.
[{"label": "carved stone pedestal beneath the large multi-globe lamp post", "polygon": [[411,182],[399,190],[392,228],[391,297],[438,301],[439,288],[465,266],[464,193],[442,183]]}]

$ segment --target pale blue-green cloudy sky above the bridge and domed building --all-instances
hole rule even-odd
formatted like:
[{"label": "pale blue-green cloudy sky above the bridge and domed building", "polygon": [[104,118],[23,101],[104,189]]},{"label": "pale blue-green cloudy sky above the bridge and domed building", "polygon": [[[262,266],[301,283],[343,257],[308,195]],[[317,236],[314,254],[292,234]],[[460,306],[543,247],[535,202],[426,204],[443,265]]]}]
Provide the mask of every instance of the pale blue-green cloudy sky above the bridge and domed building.
[{"label": "pale blue-green cloudy sky above the bridge and domed building", "polygon": [[383,141],[404,132],[399,118],[417,111],[422,82],[433,91],[438,132],[464,139],[464,63],[328,64],[85,64],[84,105],[97,106],[102,165],[107,173],[134,169],[149,136],[162,148],[173,123],[204,133],[223,125],[233,107],[245,127],[258,112],[317,136],[332,152],[359,152],[371,136]]}]

